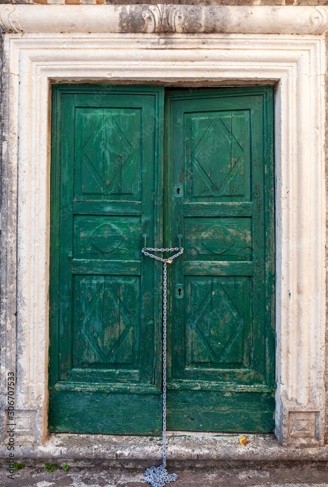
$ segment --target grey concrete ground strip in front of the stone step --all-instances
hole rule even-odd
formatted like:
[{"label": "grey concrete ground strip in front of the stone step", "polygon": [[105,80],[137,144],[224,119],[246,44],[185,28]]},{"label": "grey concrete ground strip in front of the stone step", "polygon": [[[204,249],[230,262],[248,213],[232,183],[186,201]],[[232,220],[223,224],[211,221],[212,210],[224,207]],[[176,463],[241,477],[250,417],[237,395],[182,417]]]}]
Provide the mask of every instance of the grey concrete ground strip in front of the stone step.
[{"label": "grey concrete ground strip in front of the stone step", "polygon": [[[0,487],[141,487],[145,485],[142,470],[71,467],[52,472],[25,467],[17,470],[14,480],[0,468]],[[169,470],[173,471],[173,470]],[[179,475],[173,487],[328,487],[327,467],[290,468],[220,468],[175,470]],[[147,484],[148,485],[148,484]]]}]

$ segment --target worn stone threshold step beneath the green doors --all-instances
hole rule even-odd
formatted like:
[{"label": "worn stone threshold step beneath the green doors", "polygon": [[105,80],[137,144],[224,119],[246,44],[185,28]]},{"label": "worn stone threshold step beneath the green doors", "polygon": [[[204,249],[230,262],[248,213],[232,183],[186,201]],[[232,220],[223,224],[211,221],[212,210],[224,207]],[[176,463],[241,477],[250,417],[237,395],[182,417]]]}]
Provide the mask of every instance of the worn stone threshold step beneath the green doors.
[{"label": "worn stone threshold step beneath the green doors", "polygon": [[[240,445],[243,433],[167,432],[168,467],[227,467],[238,465],[311,464],[328,461],[326,447],[283,447],[273,434],[247,434],[249,444]],[[8,458],[5,445],[0,459]],[[158,466],[162,459],[159,436],[123,436],[58,433],[47,437],[41,446],[15,446],[15,461],[26,466],[44,462],[68,463],[77,467],[144,468]],[[1,460],[2,463],[2,460]]]}]

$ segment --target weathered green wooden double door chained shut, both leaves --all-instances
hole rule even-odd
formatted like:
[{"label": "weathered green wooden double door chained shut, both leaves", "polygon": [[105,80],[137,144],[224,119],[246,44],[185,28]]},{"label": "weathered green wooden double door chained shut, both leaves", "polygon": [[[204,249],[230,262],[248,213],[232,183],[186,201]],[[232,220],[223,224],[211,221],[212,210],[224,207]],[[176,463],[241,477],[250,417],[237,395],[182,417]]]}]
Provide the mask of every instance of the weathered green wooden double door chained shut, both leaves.
[{"label": "weathered green wooden double door chained shut, both leaves", "polygon": [[271,87],[53,87],[49,430],[273,431]]}]

